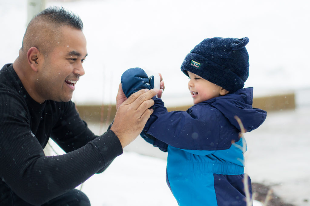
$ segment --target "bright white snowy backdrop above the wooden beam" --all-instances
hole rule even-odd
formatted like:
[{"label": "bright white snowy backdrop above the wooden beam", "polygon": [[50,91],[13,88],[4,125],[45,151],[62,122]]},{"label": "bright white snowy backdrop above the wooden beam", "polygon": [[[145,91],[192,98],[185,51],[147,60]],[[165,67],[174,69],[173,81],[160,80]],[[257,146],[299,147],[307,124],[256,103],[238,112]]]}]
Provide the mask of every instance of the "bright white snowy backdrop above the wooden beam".
[{"label": "bright white snowy backdrop above the wooden beam", "polygon": [[[0,65],[13,62],[27,24],[26,0],[0,0]],[[250,77],[255,95],[309,88],[310,2],[306,0],[67,0],[84,23],[86,75],[77,84],[77,104],[115,102],[120,76],[141,67],[161,72],[165,103],[191,103],[184,57],[203,39],[249,37]],[[93,92],[91,92],[93,91]]]}]

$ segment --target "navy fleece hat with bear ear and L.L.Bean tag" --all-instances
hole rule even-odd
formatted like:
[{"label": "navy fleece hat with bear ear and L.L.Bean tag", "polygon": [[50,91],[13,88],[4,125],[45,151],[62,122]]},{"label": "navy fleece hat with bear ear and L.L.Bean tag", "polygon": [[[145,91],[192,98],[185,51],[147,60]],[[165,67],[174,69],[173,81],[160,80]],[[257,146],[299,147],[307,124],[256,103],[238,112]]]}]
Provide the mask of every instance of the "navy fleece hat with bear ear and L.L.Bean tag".
[{"label": "navy fleece hat with bear ear and L.L.Bean tag", "polygon": [[230,93],[242,89],[249,76],[249,38],[208,38],[185,57],[181,70],[223,87]]}]

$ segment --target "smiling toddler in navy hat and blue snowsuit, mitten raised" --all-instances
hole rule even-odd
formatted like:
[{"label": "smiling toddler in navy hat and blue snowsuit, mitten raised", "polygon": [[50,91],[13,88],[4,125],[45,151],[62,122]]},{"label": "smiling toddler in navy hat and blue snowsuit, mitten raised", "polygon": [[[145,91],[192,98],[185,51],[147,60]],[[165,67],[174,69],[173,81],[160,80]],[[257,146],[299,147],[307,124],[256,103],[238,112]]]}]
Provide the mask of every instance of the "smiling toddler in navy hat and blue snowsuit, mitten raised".
[{"label": "smiling toddler in navy hat and blue snowsuit, mitten raised", "polygon": [[[253,88],[243,88],[249,75],[247,37],[208,38],[185,57],[181,71],[189,77],[194,105],[187,111],[168,112],[153,97],[154,112],[141,136],[168,152],[166,180],[182,206],[246,205],[244,156],[238,116],[247,132],[258,128],[266,112],[253,108]],[[153,88],[153,78],[140,68],[122,75],[129,97]],[[250,179],[248,179],[251,185]]]}]

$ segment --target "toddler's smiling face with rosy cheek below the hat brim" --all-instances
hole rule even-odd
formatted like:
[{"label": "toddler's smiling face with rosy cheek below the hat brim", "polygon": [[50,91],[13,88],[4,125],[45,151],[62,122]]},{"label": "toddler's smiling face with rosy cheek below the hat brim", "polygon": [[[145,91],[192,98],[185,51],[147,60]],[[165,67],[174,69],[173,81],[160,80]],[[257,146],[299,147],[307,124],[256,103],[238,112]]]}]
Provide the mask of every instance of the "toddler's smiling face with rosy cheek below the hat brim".
[{"label": "toddler's smiling face with rosy cheek below the hat brim", "polygon": [[188,76],[190,78],[188,82],[188,89],[193,97],[194,104],[220,96],[222,87],[217,86],[216,84],[213,84],[212,82],[209,82],[208,80],[191,72],[188,72]]}]

